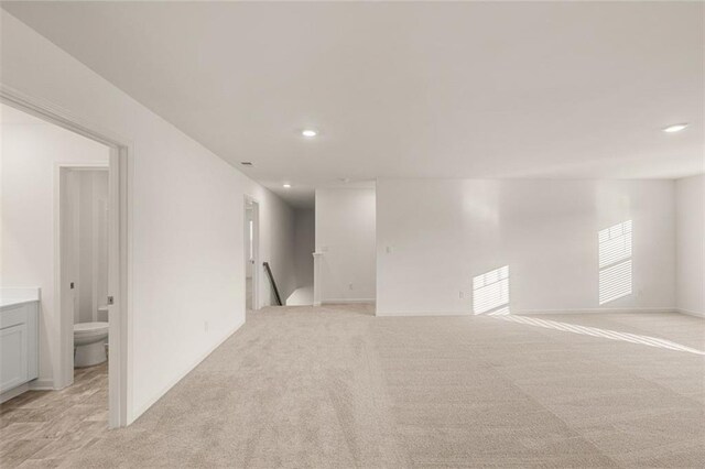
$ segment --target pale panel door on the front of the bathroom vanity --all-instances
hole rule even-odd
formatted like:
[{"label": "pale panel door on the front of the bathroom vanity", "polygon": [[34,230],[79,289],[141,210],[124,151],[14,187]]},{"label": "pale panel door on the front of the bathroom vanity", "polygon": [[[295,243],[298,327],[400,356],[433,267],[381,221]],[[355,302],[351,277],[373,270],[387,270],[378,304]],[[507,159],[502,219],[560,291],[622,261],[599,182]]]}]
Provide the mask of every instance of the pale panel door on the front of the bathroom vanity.
[{"label": "pale panel door on the front of the bathroom vanity", "polygon": [[0,392],[28,381],[26,323],[0,329]]}]

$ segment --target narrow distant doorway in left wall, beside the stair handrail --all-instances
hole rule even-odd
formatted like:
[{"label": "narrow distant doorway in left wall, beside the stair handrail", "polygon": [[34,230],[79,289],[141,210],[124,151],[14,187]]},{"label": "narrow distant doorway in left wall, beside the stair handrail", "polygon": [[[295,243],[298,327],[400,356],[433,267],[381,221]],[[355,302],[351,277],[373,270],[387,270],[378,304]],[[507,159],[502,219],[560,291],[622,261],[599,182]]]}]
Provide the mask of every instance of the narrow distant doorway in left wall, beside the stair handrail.
[{"label": "narrow distant doorway in left wall, beside the stair handrail", "polygon": [[252,197],[245,197],[245,312],[257,310],[259,303],[259,204]]}]

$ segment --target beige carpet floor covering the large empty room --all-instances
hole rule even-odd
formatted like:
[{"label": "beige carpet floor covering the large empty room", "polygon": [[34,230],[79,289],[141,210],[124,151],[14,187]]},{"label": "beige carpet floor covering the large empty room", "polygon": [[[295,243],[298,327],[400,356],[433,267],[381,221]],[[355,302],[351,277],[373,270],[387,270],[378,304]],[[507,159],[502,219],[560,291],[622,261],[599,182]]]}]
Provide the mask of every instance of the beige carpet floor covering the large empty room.
[{"label": "beige carpet floor covering the large empty room", "polygon": [[704,320],[541,319],[252,313],[138,422],[65,466],[705,467]]}]

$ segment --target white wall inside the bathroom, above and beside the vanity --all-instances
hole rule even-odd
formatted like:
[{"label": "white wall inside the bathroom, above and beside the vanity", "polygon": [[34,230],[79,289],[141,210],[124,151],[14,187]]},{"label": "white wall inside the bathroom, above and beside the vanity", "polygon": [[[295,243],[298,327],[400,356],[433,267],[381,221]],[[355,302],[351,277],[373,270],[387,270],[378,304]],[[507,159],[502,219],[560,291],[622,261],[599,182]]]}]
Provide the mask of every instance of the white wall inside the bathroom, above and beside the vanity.
[{"label": "white wall inside the bathroom, above and beside the vanity", "polygon": [[109,149],[56,126],[7,124],[1,133],[3,287],[42,290],[39,382],[59,372],[59,312],[54,291],[54,200],[58,163],[108,164]]}]

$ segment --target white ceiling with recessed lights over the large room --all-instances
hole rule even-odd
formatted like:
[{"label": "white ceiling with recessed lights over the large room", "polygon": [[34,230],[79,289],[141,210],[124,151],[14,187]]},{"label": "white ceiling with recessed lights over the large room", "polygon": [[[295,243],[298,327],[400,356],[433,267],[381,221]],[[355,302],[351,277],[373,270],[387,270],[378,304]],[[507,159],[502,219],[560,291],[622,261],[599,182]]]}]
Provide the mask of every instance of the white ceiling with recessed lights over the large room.
[{"label": "white ceiling with recessed lights over the large room", "polygon": [[701,2],[3,8],[294,205],[341,178],[704,167]]}]

